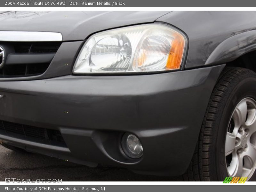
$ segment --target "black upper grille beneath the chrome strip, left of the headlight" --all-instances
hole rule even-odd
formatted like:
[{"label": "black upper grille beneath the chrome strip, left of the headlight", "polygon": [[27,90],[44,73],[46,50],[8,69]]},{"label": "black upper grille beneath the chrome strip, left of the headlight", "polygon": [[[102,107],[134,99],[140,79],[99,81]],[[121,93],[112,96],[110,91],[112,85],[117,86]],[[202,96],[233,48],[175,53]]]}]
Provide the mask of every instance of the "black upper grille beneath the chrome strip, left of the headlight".
[{"label": "black upper grille beneath the chrome strip, left of the headlight", "polygon": [[5,51],[5,62],[4,67],[0,69],[0,78],[43,74],[60,44],[60,42],[0,42],[0,46]]}]

